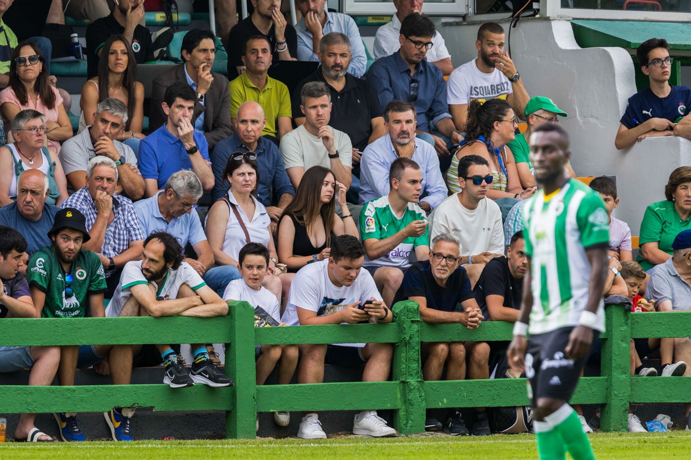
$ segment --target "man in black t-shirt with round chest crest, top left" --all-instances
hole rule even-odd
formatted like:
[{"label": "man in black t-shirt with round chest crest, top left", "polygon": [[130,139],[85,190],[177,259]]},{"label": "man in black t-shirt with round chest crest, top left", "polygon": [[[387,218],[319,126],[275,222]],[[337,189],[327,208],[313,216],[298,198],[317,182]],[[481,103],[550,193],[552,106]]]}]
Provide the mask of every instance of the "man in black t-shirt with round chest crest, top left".
[{"label": "man in black t-shirt with round chest crest, top left", "polygon": [[97,19],[86,28],[87,77],[98,74],[101,47],[111,35],[122,34],[129,40],[138,64],[153,62],[151,31],[140,26],[144,17],[144,0],[113,0],[115,9],[106,17]]}]

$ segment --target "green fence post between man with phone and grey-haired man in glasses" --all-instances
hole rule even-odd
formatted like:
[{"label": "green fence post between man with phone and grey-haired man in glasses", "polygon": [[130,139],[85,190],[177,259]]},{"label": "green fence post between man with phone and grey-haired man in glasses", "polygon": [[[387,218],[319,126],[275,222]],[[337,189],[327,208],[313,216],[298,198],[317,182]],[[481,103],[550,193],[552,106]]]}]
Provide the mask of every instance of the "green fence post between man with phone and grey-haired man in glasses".
[{"label": "green fence post between man with phone and grey-haired man in glasses", "polygon": [[401,409],[394,426],[401,434],[424,432],[425,394],[420,362],[420,311],[413,301],[393,306],[401,339],[393,357],[393,380],[401,382]]}]

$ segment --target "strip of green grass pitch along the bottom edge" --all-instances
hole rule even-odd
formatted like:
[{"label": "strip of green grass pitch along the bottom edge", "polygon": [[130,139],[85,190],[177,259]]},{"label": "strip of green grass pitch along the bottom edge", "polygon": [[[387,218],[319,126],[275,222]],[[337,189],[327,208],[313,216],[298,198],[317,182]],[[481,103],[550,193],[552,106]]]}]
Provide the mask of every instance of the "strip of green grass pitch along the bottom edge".
[{"label": "strip of green grass pitch along the bottom edge", "polygon": [[[590,435],[598,459],[688,459],[691,432],[596,433]],[[426,435],[372,439],[256,439],[223,441],[135,441],[0,444],[2,460],[94,459],[537,459],[535,437],[515,434],[489,438]]]}]

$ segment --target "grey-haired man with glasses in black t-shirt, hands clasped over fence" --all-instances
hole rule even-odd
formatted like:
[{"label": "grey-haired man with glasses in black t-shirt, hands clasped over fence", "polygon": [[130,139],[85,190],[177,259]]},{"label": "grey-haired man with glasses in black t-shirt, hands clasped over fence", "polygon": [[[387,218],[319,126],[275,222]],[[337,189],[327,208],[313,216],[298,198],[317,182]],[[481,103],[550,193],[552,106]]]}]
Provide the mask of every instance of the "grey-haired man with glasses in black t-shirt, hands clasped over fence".
[{"label": "grey-haired man with glasses in black t-shirt, hands clasped over fence", "polygon": [[[428,261],[419,261],[408,268],[394,303],[412,300],[419,303],[422,321],[431,324],[461,323],[468,329],[480,326],[482,313],[477,307],[466,270],[459,266],[460,243],[448,233],[432,239]],[[459,308],[460,303],[460,308]],[[467,372],[466,372],[467,355]],[[489,378],[489,346],[486,342],[426,342],[422,343],[422,377],[426,381],[442,379],[446,363],[446,380]],[[474,436],[489,435],[489,420],[485,408],[475,408]],[[428,411],[426,431],[439,431],[439,423]],[[452,436],[470,434],[460,409],[449,414],[444,432]]]}]

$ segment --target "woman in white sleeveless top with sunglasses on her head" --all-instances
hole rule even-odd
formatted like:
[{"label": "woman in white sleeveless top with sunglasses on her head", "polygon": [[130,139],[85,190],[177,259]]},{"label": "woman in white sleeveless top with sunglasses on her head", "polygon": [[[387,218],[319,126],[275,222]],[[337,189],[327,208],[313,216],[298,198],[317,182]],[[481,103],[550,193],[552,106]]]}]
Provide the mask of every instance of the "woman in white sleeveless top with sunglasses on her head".
[{"label": "woman in white sleeveless top with sunglasses on her head", "polygon": [[223,171],[230,184],[228,194],[216,201],[206,218],[207,239],[214,252],[216,266],[204,275],[207,285],[219,295],[230,281],[239,279],[238,257],[240,249],[247,243],[260,243],[271,254],[267,277],[262,286],[281,301],[281,281],[274,276],[276,249],[271,234],[271,218],[266,208],[256,199],[256,184],[259,181],[256,155],[253,152],[231,154]]}]

